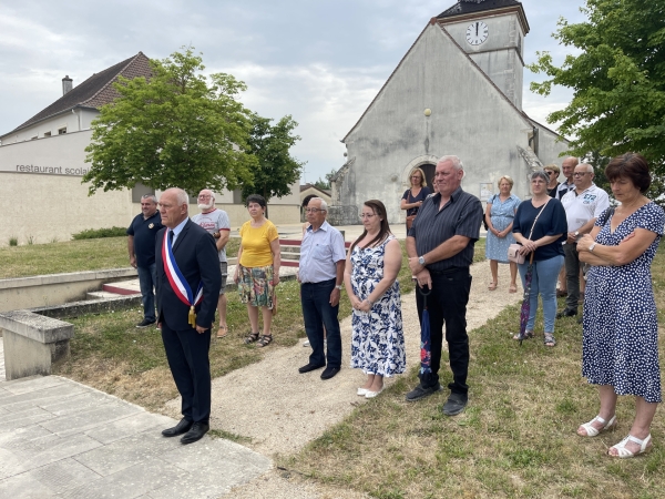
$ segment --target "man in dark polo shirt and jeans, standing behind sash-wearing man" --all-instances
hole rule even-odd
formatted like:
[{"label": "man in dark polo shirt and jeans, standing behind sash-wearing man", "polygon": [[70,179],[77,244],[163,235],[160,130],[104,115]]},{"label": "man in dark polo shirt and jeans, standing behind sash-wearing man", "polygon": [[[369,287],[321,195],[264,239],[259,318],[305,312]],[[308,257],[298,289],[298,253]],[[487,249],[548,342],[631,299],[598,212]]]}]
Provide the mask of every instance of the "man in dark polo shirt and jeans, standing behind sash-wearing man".
[{"label": "man in dark polo shirt and jeans, standing behind sash-wearing man", "polygon": [[155,238],[163,227],[157,211],[157,198],[153,194],[141,197],[141,213],[134,217],[127,228],[127,252],[130,265],[139,273],[141,301],[143,302],[143,320],[136,327],[143,328],[155,324],[155,295],[157,283],[155,268]]}]

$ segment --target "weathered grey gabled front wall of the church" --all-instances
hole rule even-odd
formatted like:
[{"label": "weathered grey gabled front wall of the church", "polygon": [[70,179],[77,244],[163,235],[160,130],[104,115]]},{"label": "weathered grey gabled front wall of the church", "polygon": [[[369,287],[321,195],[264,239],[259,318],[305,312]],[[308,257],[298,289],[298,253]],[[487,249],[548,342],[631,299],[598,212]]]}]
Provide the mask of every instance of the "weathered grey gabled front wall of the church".
[{"label": "weathered grey gabled front wall of the church", "polygon": [[[431,109],[426,118],[423,110]],[[456,154],[467,172],[463,189],[481,183],[498,192],[504,174],[524,196],[529,169],[516,145],[528,146],[531,124],[501,95],[438,26],[426,29],[345,143],[355,162],[341,185],[342,204],[383,201],[391,223],[419,156]]]}]

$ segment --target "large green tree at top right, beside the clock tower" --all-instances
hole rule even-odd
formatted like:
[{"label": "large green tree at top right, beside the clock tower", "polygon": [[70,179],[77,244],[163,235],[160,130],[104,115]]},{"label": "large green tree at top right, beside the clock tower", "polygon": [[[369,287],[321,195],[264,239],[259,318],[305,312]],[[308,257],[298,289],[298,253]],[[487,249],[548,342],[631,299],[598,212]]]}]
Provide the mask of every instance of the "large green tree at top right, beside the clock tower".
[{"label": "large green tree at top right, beside the clock tower", "polygon": [[569,153],[591,151],[612,157],[642,153],[665,174],[665,0],[586,0],[586,22],[559,20],[553,37],[577,55],[561,68],[548,52],[536,52],[529,69],[549,77],[531,90],[549,95],[552,85],[574,91],[571,103],[548,116],[561,122],[571,140]]}]

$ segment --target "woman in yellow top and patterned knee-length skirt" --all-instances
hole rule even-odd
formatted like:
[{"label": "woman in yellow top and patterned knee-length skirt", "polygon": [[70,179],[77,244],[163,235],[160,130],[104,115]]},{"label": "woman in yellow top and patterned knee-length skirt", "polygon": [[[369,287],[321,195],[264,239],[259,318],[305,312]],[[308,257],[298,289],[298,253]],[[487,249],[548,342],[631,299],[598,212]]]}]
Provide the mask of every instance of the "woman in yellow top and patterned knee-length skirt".
[{"label": "woman in yellow top and patterned knee-length skirt", "polygon": [[[241,227],[238,265],[233,281],[238,285],[241,301],[247,304],[252,325],[245,343],[256,342],[257,347],[265,347],[273,342],[273,299],[275,286],[279,284],[282,264],[279,235],[273,222],[265,217],[266,200],[263,196],[247,196],[246,205],[252,220]],[[258,307],[264,319],[263,335],[258,333]]]}]

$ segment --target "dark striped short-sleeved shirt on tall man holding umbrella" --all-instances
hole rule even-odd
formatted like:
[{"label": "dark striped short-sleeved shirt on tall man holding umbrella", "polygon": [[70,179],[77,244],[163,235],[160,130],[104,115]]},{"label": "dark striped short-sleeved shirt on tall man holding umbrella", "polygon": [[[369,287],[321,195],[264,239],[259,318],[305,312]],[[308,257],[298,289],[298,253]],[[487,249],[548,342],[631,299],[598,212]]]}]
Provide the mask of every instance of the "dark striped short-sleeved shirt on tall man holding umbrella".
[{"label": "dark striped short-sleeved shirt on tall man holding umbrella", "polygon": [[452,236],[469,237],[471,241],[467,247],[457,255],[426,265],[434,272],[468,267],[473,263],[473,245],[480,237],[482,204],[473,194],[462,191],[462,187],[451,194],[450,201],[441,210],[440,203],[439,193],[424,200],[409,236],[416,237],[416,251],[419,255],[431,252]]}]

